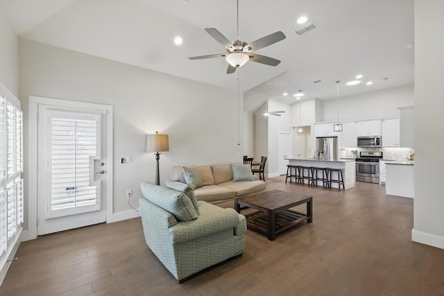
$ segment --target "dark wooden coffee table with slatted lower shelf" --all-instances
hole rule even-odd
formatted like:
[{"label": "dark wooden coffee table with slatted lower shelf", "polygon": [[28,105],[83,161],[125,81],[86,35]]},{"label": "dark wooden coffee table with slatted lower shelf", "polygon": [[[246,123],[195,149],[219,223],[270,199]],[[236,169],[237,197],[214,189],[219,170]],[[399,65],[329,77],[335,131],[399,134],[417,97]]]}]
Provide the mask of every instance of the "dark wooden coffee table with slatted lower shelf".
[{"label": "dark wooden coffee table with slatted lower shelf", "polygon": [[[302,221],[313,221],[313,207],[311,196],[291,193],[287,191],[271,190],[261,193],[242,196],[234,199],[234,209],[238,213],[245,207],[257,211],[244,215],[249,228],[255,229],[268,236],[270,241],[275,240],[276,234],[293,227]],[[307,204],[307,213],[293,211],[290,208],[299,204]]]}]

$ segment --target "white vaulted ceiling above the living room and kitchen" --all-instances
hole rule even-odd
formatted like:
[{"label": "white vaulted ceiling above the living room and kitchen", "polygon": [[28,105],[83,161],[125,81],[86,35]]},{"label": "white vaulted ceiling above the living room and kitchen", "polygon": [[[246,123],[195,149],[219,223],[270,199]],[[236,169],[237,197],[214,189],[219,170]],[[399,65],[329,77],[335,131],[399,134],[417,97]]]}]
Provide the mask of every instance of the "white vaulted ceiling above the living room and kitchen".
[{"label": "white vaulted ceiling above the living room and kitchen", "polygon": [[[237,87],[237,73],[225,73],[224,58],[188,59],[225,52],[204,28],[237,39],[235,0],[0,0],[0,7],[20,37]],[[318,27],[296,34],[301,15]],[[341,96],[413,83],[413,0],[239,0],[241,40],[275,31],[287,38],[257,53],[282,62],[271,67],[249,61],[238,69],[241,89],[250,93],[246,111],[264,103],[264,82],[271,82],[268,98],[289,104],[299,90],[303,99],[335,98],[336,80]],[[176,36],[183,39],[180,46]],[[343,85],[357,74],[361,84]]]}]

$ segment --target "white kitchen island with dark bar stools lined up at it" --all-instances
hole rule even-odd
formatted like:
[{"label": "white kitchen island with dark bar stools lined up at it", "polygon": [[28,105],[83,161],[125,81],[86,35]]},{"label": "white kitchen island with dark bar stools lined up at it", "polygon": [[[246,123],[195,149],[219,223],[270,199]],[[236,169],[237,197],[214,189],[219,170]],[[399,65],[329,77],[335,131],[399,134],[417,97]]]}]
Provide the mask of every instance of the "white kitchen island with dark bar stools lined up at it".
[{"label": "white kitchen island with dark bar stools lined up at it", "polygon": [[[316,158],[287,158],[292,166],[309,166],[315,168],[339,168],[344,178],[344,187],[349,189],[355,186],[356,165],[355,159],[338,159],[326,160]],[[322,186],[322,182],[318,181],[318,186]],[[332,188],[338,188],[337,183],[332,184]]]}]

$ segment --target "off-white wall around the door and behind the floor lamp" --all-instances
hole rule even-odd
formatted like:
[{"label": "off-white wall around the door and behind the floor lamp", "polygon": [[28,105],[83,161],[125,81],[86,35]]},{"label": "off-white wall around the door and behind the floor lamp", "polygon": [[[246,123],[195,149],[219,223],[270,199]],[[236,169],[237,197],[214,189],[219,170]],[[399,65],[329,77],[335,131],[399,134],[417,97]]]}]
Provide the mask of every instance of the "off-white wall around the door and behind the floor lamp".
[{"label": "off-white wall around the door and behind the floor lamp", "polygon": [[[155,181],[155,157],[144,152],[147,133],[169,134],[170,151],[160,156],[161,184],[173,165],[241,159],[235,76],[229,91],[30,40],[21,39],[19,50],[25,119],[30,95],[114,106],[114,214],[130,211],[126,189],[133,189],[137,204],[140,183]],[[27,124],[26,120],[25,142]],[[24,153],[26,164],[27,148]],[[126,155],[133,162],[120,164]],[[25,182],[30,169],[25,170]],[[34,195],[25,191],[26,199]]]}]

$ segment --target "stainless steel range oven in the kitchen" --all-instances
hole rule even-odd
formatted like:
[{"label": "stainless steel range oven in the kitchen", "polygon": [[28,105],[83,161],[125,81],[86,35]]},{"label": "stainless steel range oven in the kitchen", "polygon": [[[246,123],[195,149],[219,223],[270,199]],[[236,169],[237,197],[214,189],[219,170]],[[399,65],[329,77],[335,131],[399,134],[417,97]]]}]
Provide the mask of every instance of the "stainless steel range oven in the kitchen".
[{"label": "stainless steel range oven in the kitchen", "polygon": [[361,151],[359,156],[356,159],[356,180],[379,183],[379,159],[382,159],[382,152]]}]

